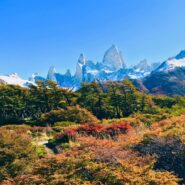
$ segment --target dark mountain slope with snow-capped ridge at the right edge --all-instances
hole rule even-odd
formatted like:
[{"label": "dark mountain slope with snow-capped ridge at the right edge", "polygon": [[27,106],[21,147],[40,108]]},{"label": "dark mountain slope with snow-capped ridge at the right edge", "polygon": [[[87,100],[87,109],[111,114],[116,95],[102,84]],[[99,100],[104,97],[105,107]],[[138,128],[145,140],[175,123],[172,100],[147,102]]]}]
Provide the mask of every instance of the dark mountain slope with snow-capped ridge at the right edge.
[{"label": "dark mountain slope with snow-capped ridge at the right edge", "polygon": [[143,84],[150,93],[185,95],[185,51],[163,62]]}]

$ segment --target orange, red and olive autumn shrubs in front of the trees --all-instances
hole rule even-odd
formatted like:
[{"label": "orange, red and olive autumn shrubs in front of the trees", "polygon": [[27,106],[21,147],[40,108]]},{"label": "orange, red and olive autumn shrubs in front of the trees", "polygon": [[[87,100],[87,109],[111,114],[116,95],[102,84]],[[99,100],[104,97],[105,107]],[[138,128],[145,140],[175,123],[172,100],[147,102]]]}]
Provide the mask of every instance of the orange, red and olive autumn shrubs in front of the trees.
[{"label": "orange, red and olive autumn shrubs in front of the trees", "polygon": [[[185,115],[150,126],[136,117],[112,122],[1,128],[1,184],[183,184]],[[32,143],[43,133],[53,136],[58,154],[39,155]]]}]

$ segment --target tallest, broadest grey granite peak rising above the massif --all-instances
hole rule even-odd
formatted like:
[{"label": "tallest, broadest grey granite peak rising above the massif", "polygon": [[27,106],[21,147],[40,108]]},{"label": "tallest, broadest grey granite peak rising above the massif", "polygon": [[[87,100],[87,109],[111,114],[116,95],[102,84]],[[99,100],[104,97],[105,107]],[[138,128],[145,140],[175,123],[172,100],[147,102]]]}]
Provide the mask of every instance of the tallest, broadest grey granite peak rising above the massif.
[{"label": "tallest, broadest grey granite peak rising above the massif", "polygon": [[112,45],[104,54],[103,64],[111,71],[125,68],[125,63],[121,51],[117,46]]}]

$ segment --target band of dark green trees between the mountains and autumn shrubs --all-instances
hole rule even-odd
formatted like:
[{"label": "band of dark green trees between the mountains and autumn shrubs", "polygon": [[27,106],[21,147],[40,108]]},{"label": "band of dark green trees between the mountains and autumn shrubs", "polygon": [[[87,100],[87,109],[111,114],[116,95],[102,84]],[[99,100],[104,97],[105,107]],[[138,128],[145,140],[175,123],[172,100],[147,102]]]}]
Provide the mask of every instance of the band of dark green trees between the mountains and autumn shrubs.
[{"label": "band of dark green trees between the mountains and autumn shrubs", "polygon": [[79,105],[98,119],[128,117],[134,113],[154,113],[157,108],[176,104],[176,99],[153,97],[139,91],[131,81],[84,83],[73,92],[59,88],[53,81],[38,81],[23,88],[0,85],[0,123],[38,120],[52,110]]}]

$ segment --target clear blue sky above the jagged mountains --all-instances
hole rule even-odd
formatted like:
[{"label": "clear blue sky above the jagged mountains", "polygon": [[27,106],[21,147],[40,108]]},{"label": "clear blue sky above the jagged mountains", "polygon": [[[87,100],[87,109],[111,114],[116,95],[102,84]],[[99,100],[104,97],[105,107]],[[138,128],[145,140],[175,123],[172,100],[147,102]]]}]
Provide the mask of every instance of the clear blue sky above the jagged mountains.
[{"label": "clear blue sky above the jagged mountains", "polygon": [[127,65],[185,49],[184,0],[0,0],[0,74],[72,72],[112,44]]}]

